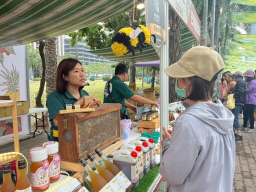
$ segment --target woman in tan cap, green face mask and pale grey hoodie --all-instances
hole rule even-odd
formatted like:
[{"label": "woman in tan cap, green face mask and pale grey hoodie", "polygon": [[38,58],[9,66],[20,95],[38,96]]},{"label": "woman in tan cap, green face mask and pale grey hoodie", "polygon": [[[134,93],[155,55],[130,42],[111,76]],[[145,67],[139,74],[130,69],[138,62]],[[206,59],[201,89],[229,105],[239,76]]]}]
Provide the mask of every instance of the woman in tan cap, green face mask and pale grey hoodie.
[{"label": "woman in tan cap, green face mask and pale grey hoodie", "polygon": [[233,114],[211,100],[214,81],[224,68],[211,47],[194,46],[165,68],[176,78],[175,91],[189,107],[174,122],[172,135],[163,129],[159,173],[166,191],[231,192],[235,164]]}]

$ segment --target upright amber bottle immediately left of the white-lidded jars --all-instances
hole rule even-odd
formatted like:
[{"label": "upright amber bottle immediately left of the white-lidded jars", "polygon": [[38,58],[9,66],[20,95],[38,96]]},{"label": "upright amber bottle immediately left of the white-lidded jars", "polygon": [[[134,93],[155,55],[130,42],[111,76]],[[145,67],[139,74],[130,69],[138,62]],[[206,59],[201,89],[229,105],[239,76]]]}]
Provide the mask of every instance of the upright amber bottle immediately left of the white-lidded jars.
[{"label": "upright amber bottle immediately left of the white-lidded jars", "polygon": [[25,159],[18,161],[18,178],[16,183],[17,192],[31,191],[31,182],[26,175]]}]

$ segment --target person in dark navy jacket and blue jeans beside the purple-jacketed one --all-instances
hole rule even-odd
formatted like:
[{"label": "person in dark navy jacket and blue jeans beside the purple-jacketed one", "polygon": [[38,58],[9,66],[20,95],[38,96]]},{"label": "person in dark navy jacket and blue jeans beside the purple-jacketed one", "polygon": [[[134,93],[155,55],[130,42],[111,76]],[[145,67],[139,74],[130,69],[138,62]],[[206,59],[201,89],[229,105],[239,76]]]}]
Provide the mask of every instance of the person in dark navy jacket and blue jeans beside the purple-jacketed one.
[{"label": "person in dark navy jacket and blue jeans beside the purple-jacketed one", "polygon": [[235,138],[235,141],[238,141],[238,140],[242,140],[238,115],[244,106],[246,84],[242,79],[243,73],[241,71],[235,71],[235,73],[232,74],[231,77],[236,82],[235,86],[232,89],[232,93],[234,94],[234,99],[235,99],[234,101],[235,107],[231,110],[231,112],[234,115],[234,123],[233,123],[234,138]]}]

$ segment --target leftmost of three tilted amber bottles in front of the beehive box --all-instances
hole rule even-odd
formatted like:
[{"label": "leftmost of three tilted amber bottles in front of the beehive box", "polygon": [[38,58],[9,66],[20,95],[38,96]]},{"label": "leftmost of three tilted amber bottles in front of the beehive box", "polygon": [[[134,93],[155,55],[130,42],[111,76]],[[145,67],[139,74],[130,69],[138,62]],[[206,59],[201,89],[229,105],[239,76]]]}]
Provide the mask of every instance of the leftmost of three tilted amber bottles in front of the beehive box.
[{"label": "leftmost of three tilted amber bottles in front of the beehive box", "polygon": [[103,188],[107,184],[107,181],[102,176],[94,172],[91,169],[91,167],[88,165],[88,163],[84,160],[83,157],[79,158],[79,162],[82,164],[82,166],[85,168],[86,172],[88,173],[90,177],[91,185],[95,190],[95,192],[98,192],[101,188]]}]

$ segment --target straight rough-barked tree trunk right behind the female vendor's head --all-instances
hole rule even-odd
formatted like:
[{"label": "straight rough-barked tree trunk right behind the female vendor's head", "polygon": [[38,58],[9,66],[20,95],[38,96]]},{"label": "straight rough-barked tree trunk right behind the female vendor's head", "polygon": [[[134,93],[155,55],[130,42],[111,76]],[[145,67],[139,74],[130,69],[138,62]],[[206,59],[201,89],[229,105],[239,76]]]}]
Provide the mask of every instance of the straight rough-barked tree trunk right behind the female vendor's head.
[{"label": "straight rough-barked tree trunk right behind the female vendor's head", "polygon": [[57,68],[56,38],[45,40],[46,98],[55,90]]}]

